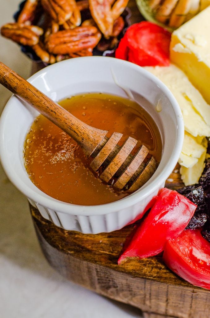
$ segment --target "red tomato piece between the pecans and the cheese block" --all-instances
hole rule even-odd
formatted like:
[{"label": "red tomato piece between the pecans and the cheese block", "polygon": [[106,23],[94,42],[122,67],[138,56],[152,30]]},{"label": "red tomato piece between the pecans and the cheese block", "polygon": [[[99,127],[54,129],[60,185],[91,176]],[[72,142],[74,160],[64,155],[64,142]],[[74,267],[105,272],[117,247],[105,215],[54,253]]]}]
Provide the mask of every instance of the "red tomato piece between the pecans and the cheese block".
[{"label": "red tomato piece between the pecans and the cheese block", "polygon": [[168,66],[171,33],[161,26],[142,21],[132,24],[121,39],[115,57],[140,66]]}]

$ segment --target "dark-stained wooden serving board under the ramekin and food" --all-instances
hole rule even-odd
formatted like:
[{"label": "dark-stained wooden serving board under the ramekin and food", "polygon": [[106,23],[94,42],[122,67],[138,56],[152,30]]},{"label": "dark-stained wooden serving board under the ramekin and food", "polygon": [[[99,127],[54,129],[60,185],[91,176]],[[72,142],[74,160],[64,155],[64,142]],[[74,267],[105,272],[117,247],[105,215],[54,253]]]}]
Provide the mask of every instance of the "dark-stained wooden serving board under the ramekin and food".
[{"label": "dark-stained wooden serving board under the ramekin and food", "polygon": [[[130,0],[128,7],[131,24],[143,20],[135,0]],[[32,72],[42,67],[34,63]],[[178,169],[175,167],[169,176],[168,188],[183,186]],[[179,278],[164,265],[161,256],[128,259],[117,265],[122,245],[134,225],[111,233],[82,234],[57,227],[31,205],[30,211],[46,259],[68,280],[140,308],[145,318],[210,317],[210,291]]]}]

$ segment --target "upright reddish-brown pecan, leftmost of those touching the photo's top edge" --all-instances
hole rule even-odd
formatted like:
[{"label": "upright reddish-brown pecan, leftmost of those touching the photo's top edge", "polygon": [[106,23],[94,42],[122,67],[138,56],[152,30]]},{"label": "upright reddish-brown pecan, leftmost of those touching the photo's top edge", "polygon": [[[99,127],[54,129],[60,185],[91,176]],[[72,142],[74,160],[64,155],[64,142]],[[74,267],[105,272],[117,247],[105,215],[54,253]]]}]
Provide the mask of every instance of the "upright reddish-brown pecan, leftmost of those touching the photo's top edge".
[{"label": "upright reddish-brown pecan, leftmost of those touching the photo's top edge", "polygon": [[34,23],[40,17],[40,0],[26,0],[17,23]]}]

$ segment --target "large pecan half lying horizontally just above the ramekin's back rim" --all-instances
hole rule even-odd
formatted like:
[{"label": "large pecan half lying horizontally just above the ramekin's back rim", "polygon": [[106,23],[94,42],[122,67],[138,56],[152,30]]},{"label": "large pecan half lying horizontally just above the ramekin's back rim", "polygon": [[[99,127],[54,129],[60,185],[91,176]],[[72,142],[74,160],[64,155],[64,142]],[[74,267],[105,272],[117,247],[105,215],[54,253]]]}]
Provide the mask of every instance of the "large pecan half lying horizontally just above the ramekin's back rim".
[{"label": "large pecan half lying horizontally just above the ramekin's back rim", "polygon": [[70,54],[87,48],[93,48],[101,38],[94,26],[78,26],[73,30],[58,31],[46,40],[46,47],[53,54]]}]

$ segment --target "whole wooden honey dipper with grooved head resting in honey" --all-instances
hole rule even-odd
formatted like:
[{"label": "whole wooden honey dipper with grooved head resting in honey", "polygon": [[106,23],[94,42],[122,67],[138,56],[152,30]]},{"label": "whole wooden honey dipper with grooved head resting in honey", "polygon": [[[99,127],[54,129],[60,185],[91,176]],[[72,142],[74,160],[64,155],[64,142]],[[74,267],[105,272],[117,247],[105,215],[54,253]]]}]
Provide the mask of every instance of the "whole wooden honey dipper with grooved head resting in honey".
[{"label": "whole wooden honey dipper with grooved head resting in honey", "polygon": [[108,138],[107,130],[97,129],[80,121],[2,62],[0,83],[70,135],[81,146],[85,155],[93,158],[91,169],[98,172],[100,168],[99,178],[102,181],[108,183],[111,180],[115,188],[126,188],[129,192],[134,192],[154,174],[157,168],[154,157],[151,156],[145,162],[149,152],[147,147],[141,145],[135,155],[132,155],[137,144],[136,139],[128,137],[119,146],[122,134],[114,132]]}]

